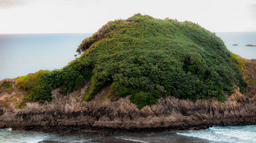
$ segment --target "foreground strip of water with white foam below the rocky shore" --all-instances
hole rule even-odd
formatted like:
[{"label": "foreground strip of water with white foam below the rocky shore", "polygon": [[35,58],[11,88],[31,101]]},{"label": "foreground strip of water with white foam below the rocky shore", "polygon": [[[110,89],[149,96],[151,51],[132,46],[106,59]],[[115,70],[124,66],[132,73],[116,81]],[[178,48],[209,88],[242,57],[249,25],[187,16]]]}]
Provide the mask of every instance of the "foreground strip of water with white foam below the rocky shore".
[{"label": "foreground strip of water with white foam below the rocky shore", "polygon": [[211,127],[200,131],[173,131],[164,133],[125,133],[110,136],[53,135],[33,131],[0,129],[0,142],[256,142],[256,125],[242,127]]}]

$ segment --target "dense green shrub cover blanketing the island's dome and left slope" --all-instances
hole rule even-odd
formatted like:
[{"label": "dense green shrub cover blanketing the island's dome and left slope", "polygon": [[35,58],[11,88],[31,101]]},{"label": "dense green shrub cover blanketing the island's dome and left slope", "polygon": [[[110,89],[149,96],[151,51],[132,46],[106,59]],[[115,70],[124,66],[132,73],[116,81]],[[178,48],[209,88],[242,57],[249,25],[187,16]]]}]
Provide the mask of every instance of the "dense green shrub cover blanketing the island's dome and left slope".
[{"label": "dense green shrub cover blanketing the island's dome and left slope", "polygon": [[107,83],[119,97],[142,108],[164,96],[180,99],[215,98],[247,82],[231,62],[224,42],[198,24],[156,19],[135,14],[110,21],[77,49],[80,57],[59,70],[40,70],[19,79],[26,100],[51,100],[51,91],[62,94],[91,85],[82,101],[89,101]]}]

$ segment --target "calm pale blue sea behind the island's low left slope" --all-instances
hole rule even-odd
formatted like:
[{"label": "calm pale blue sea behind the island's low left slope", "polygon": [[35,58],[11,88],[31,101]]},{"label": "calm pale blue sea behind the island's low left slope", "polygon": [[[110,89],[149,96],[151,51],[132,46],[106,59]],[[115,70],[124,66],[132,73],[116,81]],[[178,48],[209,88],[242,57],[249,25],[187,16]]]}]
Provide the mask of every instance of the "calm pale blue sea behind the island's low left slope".
[{"label": "calm pale blue sea behind the island's low left slope", "polygon": [[0,35],[0,80],[54,70],[75,59],[76,48],[92,34]]}]

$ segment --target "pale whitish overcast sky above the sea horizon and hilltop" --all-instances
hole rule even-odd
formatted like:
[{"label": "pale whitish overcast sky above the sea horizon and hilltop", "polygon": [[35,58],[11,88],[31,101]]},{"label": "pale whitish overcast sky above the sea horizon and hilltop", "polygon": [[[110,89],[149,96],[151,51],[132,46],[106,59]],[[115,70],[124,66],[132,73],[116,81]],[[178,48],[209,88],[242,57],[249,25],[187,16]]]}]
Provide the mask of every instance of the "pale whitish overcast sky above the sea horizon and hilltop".
[{"label": "pale whitish overcast sky above the sea horizon and hilltop", "polygon": [[95,33],[136,13],[192,21],[211,32],[256,32],[256,0],[0,0],[0,34]]}]

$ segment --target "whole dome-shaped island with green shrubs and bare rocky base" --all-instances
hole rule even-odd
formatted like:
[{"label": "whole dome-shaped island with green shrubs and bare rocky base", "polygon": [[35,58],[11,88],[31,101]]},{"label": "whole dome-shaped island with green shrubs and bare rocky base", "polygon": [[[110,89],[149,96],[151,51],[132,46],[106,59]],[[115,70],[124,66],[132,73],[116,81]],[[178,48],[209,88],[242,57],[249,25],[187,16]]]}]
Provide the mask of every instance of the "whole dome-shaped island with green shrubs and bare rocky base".
[{"label": "whole dome-shaped island with green shrubs and bare rocky base", "polygon": [[0,81],[0,128],[56,133],[256,124],[256,61],[198,24],[135,14],[62,69]]}]

